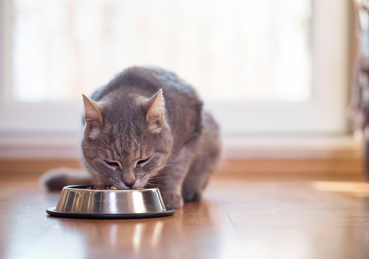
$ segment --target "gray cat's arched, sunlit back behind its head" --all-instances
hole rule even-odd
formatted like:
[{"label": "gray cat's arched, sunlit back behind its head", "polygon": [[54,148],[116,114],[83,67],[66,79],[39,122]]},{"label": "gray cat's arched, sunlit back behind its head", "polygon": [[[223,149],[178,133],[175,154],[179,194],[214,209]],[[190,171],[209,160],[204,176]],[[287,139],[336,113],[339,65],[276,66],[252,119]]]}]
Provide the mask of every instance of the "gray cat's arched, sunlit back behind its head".
[{"label": "gray cat's arched, sunlit back behind its head", "polygon": [[159,89],[163,89],[167,119],[175,139],[180,136],[184,142],[199,132],[203,102],[190,84],[166,69],[154,66],[127,68],[109,84],[97,89],[92,99],[107,98],[115,106],[120,106],[118,110],[123,110],[125,106],[133,105],[135,96],[150,98]]}]

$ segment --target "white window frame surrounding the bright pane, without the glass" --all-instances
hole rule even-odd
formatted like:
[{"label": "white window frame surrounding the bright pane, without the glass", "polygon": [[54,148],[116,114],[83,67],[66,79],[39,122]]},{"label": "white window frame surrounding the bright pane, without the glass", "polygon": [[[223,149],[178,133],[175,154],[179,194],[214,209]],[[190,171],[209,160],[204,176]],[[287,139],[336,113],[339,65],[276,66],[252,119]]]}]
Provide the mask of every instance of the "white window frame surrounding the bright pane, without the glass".
[{"label": "white window frame surrounding the bright pane, without the glass", "polygon": [[[82,97],[78,103],[11,100],[10,8],[11,0],[0,1],[0,134],[80,134]],[[312,98],[298,103],[207,102],[224,136],[347,132],[348,1],[313,0],[312,16]]]}]

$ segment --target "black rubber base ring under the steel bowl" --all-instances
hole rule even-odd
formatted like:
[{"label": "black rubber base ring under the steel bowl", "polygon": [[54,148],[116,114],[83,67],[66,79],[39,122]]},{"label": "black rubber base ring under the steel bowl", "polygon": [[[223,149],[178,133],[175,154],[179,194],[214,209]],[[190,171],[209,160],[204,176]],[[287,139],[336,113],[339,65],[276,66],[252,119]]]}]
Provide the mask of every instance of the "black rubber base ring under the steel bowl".
[{"label": "black rubber base ring under the steel bowl", "polygon": [[151,213],[133,213],[133,214],[86,214],[86,213],[68,213],[55,211],[55,207],[46,209],[46,213],[61,218],[82,218],[82,219],[134,219],[134,218],[157,218],[170,216],[175,209],[166,208],[166,211]]}]

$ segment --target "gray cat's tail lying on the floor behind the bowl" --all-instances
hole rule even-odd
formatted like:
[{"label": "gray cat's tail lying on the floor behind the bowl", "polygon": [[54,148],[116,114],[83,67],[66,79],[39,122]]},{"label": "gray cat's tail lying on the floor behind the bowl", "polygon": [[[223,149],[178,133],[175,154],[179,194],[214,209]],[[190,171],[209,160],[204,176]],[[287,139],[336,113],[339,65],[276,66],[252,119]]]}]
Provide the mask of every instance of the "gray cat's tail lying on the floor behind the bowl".
[{"label": "gray cat's tail lying on the floor behind the bowl", "polygon": [[66,185],[92,185],[93,179],[87,171],[69,167],[55,168],[41,175],[39,182],[49,191],[62,190]]}]

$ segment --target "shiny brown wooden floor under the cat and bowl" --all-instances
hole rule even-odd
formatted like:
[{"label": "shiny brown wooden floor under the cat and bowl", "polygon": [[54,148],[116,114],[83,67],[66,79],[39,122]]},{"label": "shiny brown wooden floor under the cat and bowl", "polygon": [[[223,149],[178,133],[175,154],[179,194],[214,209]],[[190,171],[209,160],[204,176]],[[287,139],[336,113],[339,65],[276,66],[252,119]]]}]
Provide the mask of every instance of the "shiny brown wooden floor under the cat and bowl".
[{"label": "shiny brown wooden floor under the cat and bowl", "polygon": [[0,258],[369,258],[360,182],[214,179],[203,201],[134,220],[53,218],[58,196],[1,181]]}]

